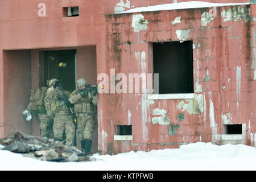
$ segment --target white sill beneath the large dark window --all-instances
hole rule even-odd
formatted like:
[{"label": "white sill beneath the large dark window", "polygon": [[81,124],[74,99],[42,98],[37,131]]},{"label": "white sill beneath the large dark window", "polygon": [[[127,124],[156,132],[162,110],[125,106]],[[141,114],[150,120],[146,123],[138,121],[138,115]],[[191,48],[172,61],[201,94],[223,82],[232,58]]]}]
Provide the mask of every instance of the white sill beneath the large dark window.
[{"label": "white sill beneath the large dark window", "polygon": [[195,94],[193,93],[148,94],[148,100],[189,99],[194,97],[195,97]]}]

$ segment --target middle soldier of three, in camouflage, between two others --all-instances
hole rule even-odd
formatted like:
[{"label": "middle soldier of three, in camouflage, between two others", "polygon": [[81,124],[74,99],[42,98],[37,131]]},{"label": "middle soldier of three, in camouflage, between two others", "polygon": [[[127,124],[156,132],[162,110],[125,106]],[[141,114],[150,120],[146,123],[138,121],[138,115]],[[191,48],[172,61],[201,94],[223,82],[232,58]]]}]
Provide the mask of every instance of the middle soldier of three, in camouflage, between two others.
[{"label": "middle soldier of three, in camouflage, between two others", "polygon": [[[66,145],[73,146],[75,124],[73,123],[73,118],[69,113],[68,107],[61,100],[63,93],[59,90],[59,88],[54,88],[53,86],[56,81],[58,80],[55,78],[49,81],[51,87],[48,88],[45,99],[47,114],[54,118],[54,140],[61,141],[65,130]],[[67,91],[64,91],[64,93],[67,94],[67,96],[70,94]]]}]

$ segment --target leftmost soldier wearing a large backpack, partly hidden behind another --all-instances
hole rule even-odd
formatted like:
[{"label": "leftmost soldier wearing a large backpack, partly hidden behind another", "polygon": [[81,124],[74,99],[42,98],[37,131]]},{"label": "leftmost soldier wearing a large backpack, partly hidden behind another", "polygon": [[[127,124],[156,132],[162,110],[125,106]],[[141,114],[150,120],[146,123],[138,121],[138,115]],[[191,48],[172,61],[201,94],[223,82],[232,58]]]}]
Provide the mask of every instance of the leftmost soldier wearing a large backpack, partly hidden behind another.
[{"label": "leftmost soldier wearing a large backpack, partly hidden behind another", "polygon": [[40,122],[40,137],[50,138],[50,126],[52,125],[53,119],[46,114],[46,107],[44,106],[46,90],[46,86],[31,90],[30,103],[27,106],[27,110],[33,113]]}]

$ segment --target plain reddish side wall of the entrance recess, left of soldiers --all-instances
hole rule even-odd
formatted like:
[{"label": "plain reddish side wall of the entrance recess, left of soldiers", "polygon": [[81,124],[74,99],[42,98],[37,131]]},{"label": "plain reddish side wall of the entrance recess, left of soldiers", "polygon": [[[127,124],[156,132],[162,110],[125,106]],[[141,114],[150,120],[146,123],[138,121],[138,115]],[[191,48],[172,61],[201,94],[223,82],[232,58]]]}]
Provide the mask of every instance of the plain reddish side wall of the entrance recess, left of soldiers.
[{"label": "plain reddish side wall of the entrance recess, left of soldiers", "polygon": [[32,123],[22,117],[31,90],[31,51],[4,51],[3,74],[3,133],[6,136],[19,130],[32,134]]}]

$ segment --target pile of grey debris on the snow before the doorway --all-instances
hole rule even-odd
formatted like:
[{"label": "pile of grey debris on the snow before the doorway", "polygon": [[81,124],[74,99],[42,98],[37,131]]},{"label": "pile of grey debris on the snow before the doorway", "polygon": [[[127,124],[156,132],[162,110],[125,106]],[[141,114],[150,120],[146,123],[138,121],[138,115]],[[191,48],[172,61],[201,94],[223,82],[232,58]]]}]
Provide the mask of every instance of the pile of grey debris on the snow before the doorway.
[{"label": "pile of grey debris on the snow before the doorway", "polygon": [[84,153],[75,146],[65,146],[63,142],[53,139],[34,137],[20,132],[13,133],[0,139],[5,146],[2,150],[20,153],[25,157],[50,162],[86,162],[95,160],[92,153]]}]

